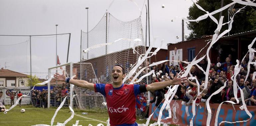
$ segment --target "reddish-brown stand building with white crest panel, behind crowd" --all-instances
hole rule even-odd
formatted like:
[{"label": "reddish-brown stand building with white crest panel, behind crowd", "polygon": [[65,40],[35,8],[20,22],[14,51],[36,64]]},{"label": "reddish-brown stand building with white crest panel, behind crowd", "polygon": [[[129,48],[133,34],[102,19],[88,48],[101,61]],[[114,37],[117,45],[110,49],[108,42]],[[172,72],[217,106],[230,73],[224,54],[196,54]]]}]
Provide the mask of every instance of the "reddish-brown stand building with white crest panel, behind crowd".
[{"label": "reddish-brown stand building with white crest panel, behind crowd", "polygon": [[[231,54],[232,62],[236,59],[241,60],[241,56],[245,55],[248,51],[248,45],[256,37],[256,30],[236,33],[228,36],[221,37],[209,51],[209,56],[212,63],[217,62],[217,57],[220,56],[221,62],[225,62],[226,57]],[[168,57],[170,60],[180,60],[189,62],[206,46],[207,42],[211,40],[212,36],[201,36],[191,40],[181,41],[177,43],[169,43]],[[210,44],[210,43],[209,43]],[[209,44],[202,49],[197,58],[206,54]],[[254,44],[252,48],[255,48]],[[175,63],[174,64],[178,64]]]}]

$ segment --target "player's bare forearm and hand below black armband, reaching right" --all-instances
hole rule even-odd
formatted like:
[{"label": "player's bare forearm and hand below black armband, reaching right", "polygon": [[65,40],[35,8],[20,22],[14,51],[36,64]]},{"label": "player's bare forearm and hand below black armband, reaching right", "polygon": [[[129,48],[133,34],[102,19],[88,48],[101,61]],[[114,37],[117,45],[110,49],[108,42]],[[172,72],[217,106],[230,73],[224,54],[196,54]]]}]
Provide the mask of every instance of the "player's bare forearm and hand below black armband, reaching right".
[{"label": "player's bare forearm and hand below black armband, reaching right", "polygon": [[167,86],[171,86],[171,85],[181,85],[183,87],[183,85],[181,83],[185,82],[186,80],[188,80],[186,77],[178,78],[177,74],[176,74],[176,76],[174,77],[173,80],[164,81],[164,82],[155,82],[155,83],[148,85],[146,87],[146,89],[147,89],[147,91],[153,91],[153,90],[163,89],[163,88],[165,88]]}]

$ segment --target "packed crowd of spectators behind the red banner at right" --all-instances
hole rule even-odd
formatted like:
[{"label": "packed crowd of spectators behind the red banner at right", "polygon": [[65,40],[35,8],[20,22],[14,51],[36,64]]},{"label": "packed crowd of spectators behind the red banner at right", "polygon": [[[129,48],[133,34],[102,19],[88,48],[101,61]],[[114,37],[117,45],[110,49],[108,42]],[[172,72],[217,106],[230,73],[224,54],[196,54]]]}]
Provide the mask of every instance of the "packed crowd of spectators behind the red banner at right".
[{"label": "packed crowd of spectators behind the red banner at right", "polygon": [[[217,57],[216,63],[210,63],[208,84],[205,89],[205,71],[208,66],[207,58],[204,58],[197,65],[192,66],[187,76],[187,78],[190,79],[183,84],[184,87],[178,87],[174,99],[183,100],[183,104],[186,105],[191,105],[192,101],[194,100],[196,100],[196,103],[199,103],[200,101],[205,101],[210,95],[219,90],[222,86],[224,86],[224,83],[226,83],[226,87],[222,91],[211,97],[210,103],[221,103],[222,101],[226,100],[236,102],[233,84],[237,83],[241,89],[240,90],[237,87],[237,98],[239,100],[238,104],[242,104],[241,92],[243,92],[245,103],[247,105],[256,105],[256,79],[255,75],[253,76],[256,68],[254,65],[248,64],[249,54],[246,55],[243,62],[239,62],[239,67],[241,66],[241,70],[236,76],[236,79],[232,79],[236,83],[231,80],[231,78],[234,78],[233,75],[236,65],[236,62],[232,60],[232,55],[229,54],[224,62],[222,62],[220,59],[221,57]],[[252,62],[255,62],[255,60],[256,57],[254,56]],[[247,69],[248,65],[250,65],[250,69]],[[151,67],[151,70],[155,70],[155,74],[152,75],[151,83],[172,80],[176,74],[179,74],[178,76],[184,74],[187,70],[184,69],[186,66],[186,63],[179,62],[178,65],[168,66],[168,64],[165,63],[161,64],[158,68],[157,66]],[[248,78],[246,80],[247,73]],[[198,81],[200,87],[197,87],[196,80]],[[202,92],[199,96],[197,96],[197,88],[200,88],[199,91]],[[152,94],[154,94],[154,98],[150,102],[156,102],[156,106],[158,106],[163,100],[164,94],[167,91],[168,89],[161,89],[152,92]]]}]

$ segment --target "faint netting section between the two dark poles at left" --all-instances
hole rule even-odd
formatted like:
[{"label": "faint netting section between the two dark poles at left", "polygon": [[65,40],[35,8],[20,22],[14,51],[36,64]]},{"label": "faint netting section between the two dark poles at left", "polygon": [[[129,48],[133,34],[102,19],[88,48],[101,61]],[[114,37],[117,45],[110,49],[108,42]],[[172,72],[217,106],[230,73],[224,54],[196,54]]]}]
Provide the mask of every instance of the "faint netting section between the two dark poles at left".
[{"label": "faint netting section between the two dark poles at left", "polygon": [[[61,64],[67,62],[68,40],[69,34],[57,35],[57,55]],[[56,35],[31,36],[31,58],[32,75],[46,78],[49,66],[56,66]]]}]

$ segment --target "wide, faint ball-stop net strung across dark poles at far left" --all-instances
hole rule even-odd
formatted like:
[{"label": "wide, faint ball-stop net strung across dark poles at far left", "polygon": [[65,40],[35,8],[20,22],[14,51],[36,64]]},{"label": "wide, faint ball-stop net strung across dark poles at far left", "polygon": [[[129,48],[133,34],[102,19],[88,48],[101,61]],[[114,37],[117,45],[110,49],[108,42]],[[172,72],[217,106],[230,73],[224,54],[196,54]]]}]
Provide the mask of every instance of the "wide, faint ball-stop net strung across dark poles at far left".
[{"label": "wide, faint ball-stop net strung across dark poles at far left", "polygon": [[[0,67],[27,75],[32,72],[33,76],[36,75],[41,79],[45,79],[48,75],[47,68],[56,66],[56,37],[57,55],[59,55],[60,62],[63,64],[67,60],[68,33],[57,36],[0,35]],[[32,71],[30,71],[30,62]]]}]

